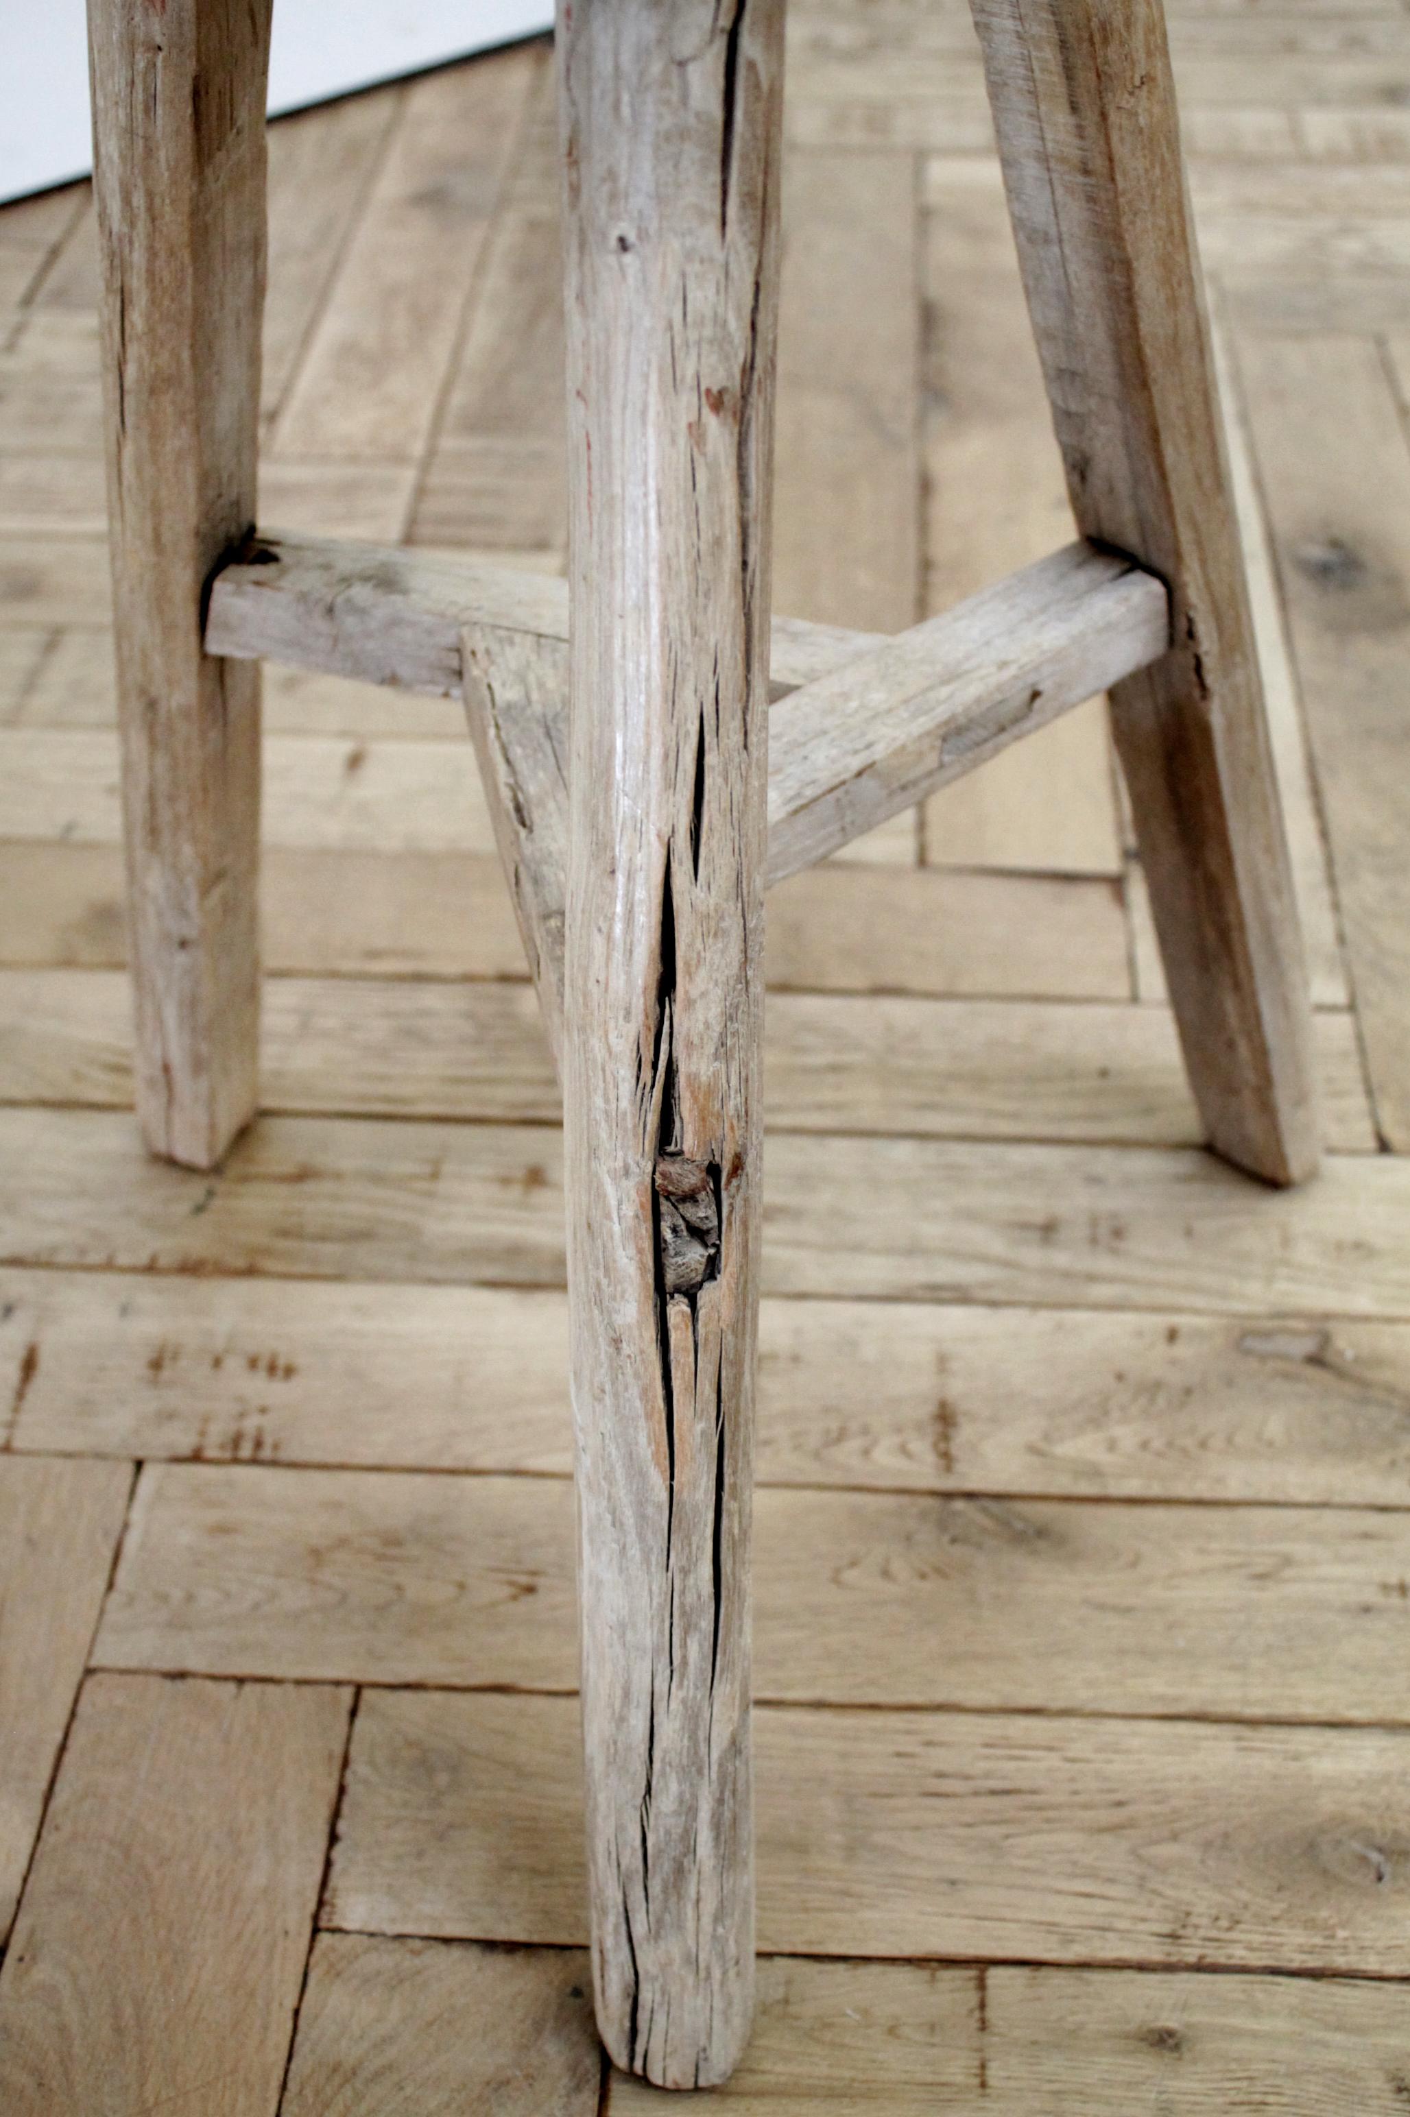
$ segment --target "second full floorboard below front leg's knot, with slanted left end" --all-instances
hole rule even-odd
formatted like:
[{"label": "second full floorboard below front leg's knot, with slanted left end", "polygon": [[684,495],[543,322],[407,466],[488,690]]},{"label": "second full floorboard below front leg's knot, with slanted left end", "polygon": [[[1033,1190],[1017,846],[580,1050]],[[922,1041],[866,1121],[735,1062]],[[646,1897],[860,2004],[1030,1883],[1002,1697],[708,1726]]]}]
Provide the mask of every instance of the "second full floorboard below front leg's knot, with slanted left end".
[{"label": "second full floorboard below front leg's knot, with slanted left end", "polygon": [[[1404,1509],[762,1490],[756,1518],[773,1704],[1410,1725]],[[165,1463],[93,1658],[567,1691],[572,1620],[567,1480]]]}]

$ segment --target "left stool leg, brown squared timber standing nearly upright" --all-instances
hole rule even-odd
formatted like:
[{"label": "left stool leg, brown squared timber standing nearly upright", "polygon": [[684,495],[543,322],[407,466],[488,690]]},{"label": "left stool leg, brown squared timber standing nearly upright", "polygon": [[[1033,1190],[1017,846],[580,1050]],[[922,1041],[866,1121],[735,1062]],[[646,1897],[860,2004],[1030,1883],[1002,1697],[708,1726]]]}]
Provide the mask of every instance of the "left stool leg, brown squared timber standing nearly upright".
[{"label": "left stool leg, brown squared timber standing nearly upright", "polygon": [[201,652],[254,525],[269,0],[89,0],[138,1118],[210,1169],[254,1114],[260,690]]}]

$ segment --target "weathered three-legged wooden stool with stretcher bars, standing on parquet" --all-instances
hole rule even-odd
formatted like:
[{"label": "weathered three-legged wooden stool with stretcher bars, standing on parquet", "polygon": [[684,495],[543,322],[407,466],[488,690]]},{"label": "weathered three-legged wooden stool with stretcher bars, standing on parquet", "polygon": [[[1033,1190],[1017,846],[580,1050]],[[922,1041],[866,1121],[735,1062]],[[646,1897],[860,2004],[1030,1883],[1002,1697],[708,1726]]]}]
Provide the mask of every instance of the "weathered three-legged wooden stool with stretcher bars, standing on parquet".
[{"label": "weathered three-legged wooden stool with stretcher bars, standing on parquet", "polygon": [[258,656],[464,690],[561,1052],[597,2020],[665,2085],[752,2007],[764,885],[1109,688],[1209,1141],[1317,1160],[1160,6],[974,15],[1084,542],[874,639],[769,620],[783,0],[563,0],[567,591],[256,536],[269,0],[91,0],[142,1128],[256,1107]]}]

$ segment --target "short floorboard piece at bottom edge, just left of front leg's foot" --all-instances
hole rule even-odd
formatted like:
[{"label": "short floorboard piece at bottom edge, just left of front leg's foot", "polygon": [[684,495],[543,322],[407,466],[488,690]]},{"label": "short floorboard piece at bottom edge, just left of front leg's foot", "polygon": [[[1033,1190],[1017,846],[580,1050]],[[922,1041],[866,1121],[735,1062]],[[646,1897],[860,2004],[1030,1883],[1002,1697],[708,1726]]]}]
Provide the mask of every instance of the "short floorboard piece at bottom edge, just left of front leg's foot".
[{"label": "short floorboard piece at bottom edge, just left of front leg's foot", "polygon": [[320,1933],[282,2117],[597,2117],[584,1954]]}]

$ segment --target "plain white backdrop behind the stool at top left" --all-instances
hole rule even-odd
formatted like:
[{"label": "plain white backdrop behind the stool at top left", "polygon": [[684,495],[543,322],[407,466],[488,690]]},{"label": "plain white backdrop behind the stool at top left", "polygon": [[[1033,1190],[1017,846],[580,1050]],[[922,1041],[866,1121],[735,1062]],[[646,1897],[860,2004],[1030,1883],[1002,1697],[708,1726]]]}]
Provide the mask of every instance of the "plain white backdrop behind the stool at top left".
[{"label": "plain white backdrop behind the stool at top left", "polygon": [[[269,110],[553,28],[553,0],[275,0]],[[87,176],[83,0],[0,0],[0,199]]]}]

